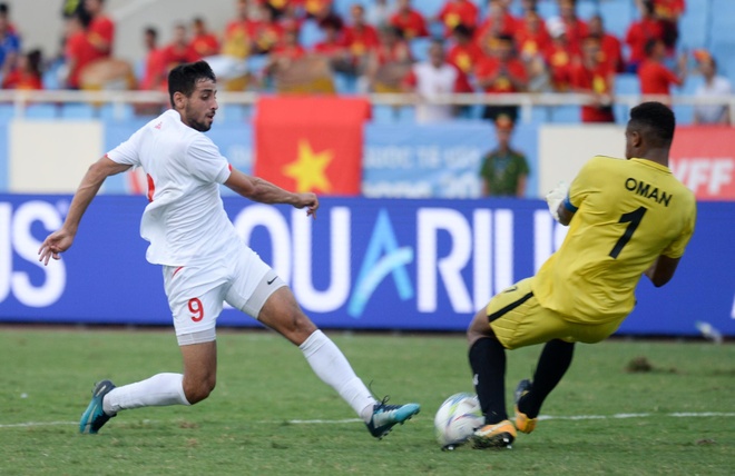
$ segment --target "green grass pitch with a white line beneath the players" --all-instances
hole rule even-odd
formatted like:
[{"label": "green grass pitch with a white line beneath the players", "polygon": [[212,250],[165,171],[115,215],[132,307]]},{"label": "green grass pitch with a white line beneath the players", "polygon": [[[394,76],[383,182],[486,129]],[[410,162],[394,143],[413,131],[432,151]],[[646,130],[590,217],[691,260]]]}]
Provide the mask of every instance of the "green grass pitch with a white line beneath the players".
[{"label": "green grass pitch with a white line beneath the players", "polygon": [[[79,435],[76,423],[97,379],[121,385],[180,371],[173,330],[0,328],[0,474],[735,473],[733,344],[578,345],[543,407],[550,418],[532,435],[519,435],[512,449],[441,452],[434,413],[449,395],[472,391],[463,337],[327,335],[378,397],[418,401],[421,414],[375,440],[285,339],[220,330],[209,399],[124,411],[99,435]],[[509,407],[539,351],[508,354]],[[636,357],[653,369],[627,371]]]}]

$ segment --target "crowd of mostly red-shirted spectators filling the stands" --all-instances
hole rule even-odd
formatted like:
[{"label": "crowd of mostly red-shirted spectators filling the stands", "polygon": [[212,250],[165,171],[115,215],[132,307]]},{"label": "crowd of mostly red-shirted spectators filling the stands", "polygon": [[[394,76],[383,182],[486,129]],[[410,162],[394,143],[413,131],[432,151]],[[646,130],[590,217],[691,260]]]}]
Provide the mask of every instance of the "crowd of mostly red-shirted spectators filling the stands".
[{"label": "crowd of mostly red-shirted spectators filling the stands", "polygon": [[[558,14],[546,19],[538,12],[539,0],[516,1],[521,4],[518,16],[511,13],[513,0],[489,0],[483,9],[470,0],[445,0],[427,18],[411,0],[355,3],[344,17],[336,13],[333,0],[233,0],[233,19],[222,32],[209,31],[203,18],[195,18],[176,24],[171,41],[159,44],[159,32],[147,28],[137,85],[165,90],[173,66],[199,58],[259,58],[261,62],[248,61],[247,80],[233,82],[231,89],[277,87],[297,71],[305,90],[321,85],[315,77],[332,73],[354,80],[357,92],[413,92],[423,98],[471,91],[584,92],[594,100],[582,108],[581,119],[608,122],[615,120],[610,105],[616,75],[638,75],[643,93],[669,95],[672,86],[685,81],[690,58],[676,56],[684,0],[636,0],[639,18],[624,38],[606,31],[599,14],[580,19],[576,0],[541,0],[557,4]],[[105,13],[104,0],[67,0],[65,17],[61,85],[79,89],[87,66],[114,56],[115,24]],[[321,30],[320,41],[302,44],[306,24]],[[425,60],[416,61],[411,42],[432,33]],[[39,52],[21,51],[8,8],[0,4],[2,87],[41,88]],[[716,71],[714,58],[703,52],[695,57],[703,73]],[[723,81],[708,80],[703,93],[728,91]],[[458,109],[424,107],[419,119],[442,120]],[[512,106],[488,107],[483,117],[513,120],[517,113]],[[714,116],[703,113],[698,120]]]}]

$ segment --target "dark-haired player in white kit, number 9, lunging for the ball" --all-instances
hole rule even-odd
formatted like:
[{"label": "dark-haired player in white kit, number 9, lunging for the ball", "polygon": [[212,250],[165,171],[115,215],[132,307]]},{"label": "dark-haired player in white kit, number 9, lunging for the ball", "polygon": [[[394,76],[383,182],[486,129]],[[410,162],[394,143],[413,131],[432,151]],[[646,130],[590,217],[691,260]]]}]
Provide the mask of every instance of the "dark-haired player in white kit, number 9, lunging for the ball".
[{"label": "dark-haired player in white kit, number 9, lunging for the ball", "polygon": [[227,301],[297,345],[314,373],[362,417],[370,433],[385,436],[418,414],[418,404],[376,401],[342,351],[304,315],[275,271],[237,236],[219,197],[219,185],[262,204],[288,204],[316,217],[314,194],[292,194],[229,166],[204,133],[216,110],[216,78],[205,61],[182,65],[168,76],[173,109],[136,131],[95,162],[75,194],[61,229],[39,249],[40,261],[69,249],[85,210],[105,179],[134,166],[148,178],[140,235],[146,259],[161,265],[184,360],[184,374],[157,374],[116,387],[98,383],[79,430],[96,434],[118,411],[145,406],[193,405],[215,387],[215,325]]}]

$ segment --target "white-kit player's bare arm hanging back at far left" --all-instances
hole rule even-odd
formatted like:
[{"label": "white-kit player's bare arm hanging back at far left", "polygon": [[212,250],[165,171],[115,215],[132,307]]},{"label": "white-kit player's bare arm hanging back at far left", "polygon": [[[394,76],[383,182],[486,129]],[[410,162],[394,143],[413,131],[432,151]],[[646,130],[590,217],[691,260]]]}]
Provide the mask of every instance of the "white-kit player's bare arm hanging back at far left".
[{"label": "white-kit player's bare arm hanging back at far left", "polygon": [[77,192],[71,199],[69,212],[63,220],[61,229],[49,235],[41,244],[41,247],[38,250],[39,261],[43,262],[46,266],[49,264],[50,258],[60,259],[59,254],[71,247],[81,217],[85,215],[85,211],[87,211],[87,207],[99,191],[105,179],[109,176],[128,170],[130,166],[114,162],[108,159],[107,156],[89,167],[87,173],[85,173],[85,177],[81,179]]}]

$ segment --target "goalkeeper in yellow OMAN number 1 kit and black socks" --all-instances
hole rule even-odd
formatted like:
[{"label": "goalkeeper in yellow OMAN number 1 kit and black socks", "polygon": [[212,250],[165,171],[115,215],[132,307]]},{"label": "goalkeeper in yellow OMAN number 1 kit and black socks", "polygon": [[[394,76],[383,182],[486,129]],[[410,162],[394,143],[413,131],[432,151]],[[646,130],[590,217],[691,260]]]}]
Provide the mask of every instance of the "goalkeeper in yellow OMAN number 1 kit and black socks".
[{"label": "goalkeeper in yellow OMAN number 1 kit and black socks", "polygon": [[[675,119],[659,102],[630,111],[626,158],[594,157],[568,192],[547,196],[569,231],[539,272],[497,295],[468,329],[470,366],[486,426],[476,447],[506,447],[531,433],[545,398],[569,368],[575,343],[610,336],[633,310],[646,275],[672,279],[694,232],[694,195],[668,169]],[[516,422],[506,411],[506,349],[546,343],[533,379],[516,389]]]}]

